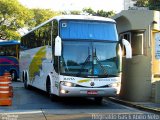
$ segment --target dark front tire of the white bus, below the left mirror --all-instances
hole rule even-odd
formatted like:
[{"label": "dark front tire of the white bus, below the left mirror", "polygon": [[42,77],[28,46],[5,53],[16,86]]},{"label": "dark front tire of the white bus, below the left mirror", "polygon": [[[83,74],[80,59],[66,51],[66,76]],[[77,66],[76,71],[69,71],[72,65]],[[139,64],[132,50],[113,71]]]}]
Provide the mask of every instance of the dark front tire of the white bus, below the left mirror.
[{"label": "dark front tire of the white bus, below the left mirror", "polygon": [[51,82],[50,82],[49,77],[47,77],[46,90],[47,90],[47,94],[49,98],[52,101],[57,101],[57,96],[51,93]]}]

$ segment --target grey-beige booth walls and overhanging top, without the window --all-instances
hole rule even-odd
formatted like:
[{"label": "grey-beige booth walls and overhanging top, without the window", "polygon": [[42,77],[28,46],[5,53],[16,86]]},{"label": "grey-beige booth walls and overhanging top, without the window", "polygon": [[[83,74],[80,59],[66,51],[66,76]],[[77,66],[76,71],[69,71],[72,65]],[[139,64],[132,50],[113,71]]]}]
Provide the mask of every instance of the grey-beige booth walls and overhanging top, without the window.
[{"label": "grey-beige booth walls and overhanging top, without the window", "polygon": [[154,59],[155,40],[153,31],[158,29],[159,12],[150,10],[127,10],[115,15],[118,33],[143,30],[143,54],[132,59],[123,58],[122,88],[120,97],[130,101],[153,99],[153,72],[159,61]]}]

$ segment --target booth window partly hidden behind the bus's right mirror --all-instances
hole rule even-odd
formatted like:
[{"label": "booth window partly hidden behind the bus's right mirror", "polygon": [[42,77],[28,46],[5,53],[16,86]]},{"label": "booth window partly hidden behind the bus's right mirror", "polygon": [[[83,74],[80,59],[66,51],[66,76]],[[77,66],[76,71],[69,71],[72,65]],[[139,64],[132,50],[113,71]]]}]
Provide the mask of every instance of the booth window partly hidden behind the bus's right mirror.
[{"label": "booth window partly hidden behind the bus's right mirror", "polygon": [[[144,32],[142,31],[130,31],[120,34],[121,39],[126,39],[130,42],[132,47],[132,55],[143,55],[144,53]],[[123,51],[124,47],[123,47]],[[125,55],[125,52],[124,54]]]}]

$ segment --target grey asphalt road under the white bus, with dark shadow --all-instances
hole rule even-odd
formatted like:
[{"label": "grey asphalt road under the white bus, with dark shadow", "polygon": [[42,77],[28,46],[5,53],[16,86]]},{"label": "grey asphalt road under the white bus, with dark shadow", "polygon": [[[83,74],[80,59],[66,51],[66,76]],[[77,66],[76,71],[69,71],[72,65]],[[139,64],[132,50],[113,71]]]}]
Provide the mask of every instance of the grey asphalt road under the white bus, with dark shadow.
[{"label": "grey asphalt road under the white bus, with dark shadow", "polygon": [[101,105],[93,99],[60,98],[51,101],[45,92],[26,90],[20,82],[14,83],[12,106],[0,106],[0,120],[106,120],[136,119],[154,117],[152,113],[120,105],[104,99]]}]

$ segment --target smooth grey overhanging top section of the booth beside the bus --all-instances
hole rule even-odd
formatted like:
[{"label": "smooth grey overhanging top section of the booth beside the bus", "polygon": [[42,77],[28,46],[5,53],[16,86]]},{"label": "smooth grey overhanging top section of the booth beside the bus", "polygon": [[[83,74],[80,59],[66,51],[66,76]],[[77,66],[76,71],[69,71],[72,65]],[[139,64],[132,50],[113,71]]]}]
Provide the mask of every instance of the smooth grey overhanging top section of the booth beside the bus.
[{"label": "smooth grey overhanging top section of the booth beside the bus", "polygon": [[[148,29],[148,25],[151,24],[151,22],[154,20],[154,12],[155,11],[151,10],[123,10],[121,13],[115,15],[113,19],[115,19],[117,22],[119,33],[134,29]],[[128,22],[126,23],[126,21]],[[122,26],[121,24],[126,25],[128,27]]]}]

